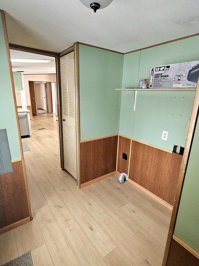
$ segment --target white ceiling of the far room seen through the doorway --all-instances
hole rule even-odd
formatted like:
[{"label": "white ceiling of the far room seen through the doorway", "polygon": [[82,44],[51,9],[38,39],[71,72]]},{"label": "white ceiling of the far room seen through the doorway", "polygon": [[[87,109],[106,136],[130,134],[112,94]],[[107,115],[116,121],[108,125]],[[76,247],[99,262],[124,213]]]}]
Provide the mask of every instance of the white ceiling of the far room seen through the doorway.
[{"label": "white ceiling of the far room seen through the doorway", "polygon": [[24,74],[54,74],[56,73],[55,58],[43,56],[34,53],[28,53],[10,49],[11,58],[23,59],[50,59],[49,63],[14,63],[12,62],[12,71],[24,71]]}]

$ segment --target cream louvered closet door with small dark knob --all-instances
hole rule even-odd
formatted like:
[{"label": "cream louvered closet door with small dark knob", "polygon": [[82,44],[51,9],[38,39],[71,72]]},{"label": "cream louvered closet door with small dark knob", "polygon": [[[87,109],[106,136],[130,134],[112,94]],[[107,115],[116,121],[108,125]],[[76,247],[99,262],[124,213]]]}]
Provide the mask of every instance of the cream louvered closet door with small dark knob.
[{"label": "cream louvered closet door with small dark knob", "polygon": [[64,168],[76,176],[76,123],[74,53],[60,58],[63,118]]}]

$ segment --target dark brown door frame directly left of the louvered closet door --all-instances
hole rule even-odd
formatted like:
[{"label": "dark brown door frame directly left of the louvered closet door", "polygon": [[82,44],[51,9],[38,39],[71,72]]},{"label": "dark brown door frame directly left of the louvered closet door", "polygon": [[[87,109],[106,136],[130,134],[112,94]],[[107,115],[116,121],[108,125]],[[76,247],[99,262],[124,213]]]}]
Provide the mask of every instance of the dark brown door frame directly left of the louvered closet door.
[{"label": "dark brown door frame directly left of the louvered closet door", "polygon": [[[73,46],[72,46],[73,47]],[[60,164],[61,168],[64,169],[63,161],[63,133],[62,133],[62,103],[61,103],[61,80],[60,80],[60,63],[59,63],[59,54],[49,51],[39,50],[35,48],[9,44],[10,49],[44,55],[44,56],[53,56],[55,57],[56,63],[56,78],[57,78],[57,98],[58,98],[58,120],[59,120],[59,141],[60,141]]]}]

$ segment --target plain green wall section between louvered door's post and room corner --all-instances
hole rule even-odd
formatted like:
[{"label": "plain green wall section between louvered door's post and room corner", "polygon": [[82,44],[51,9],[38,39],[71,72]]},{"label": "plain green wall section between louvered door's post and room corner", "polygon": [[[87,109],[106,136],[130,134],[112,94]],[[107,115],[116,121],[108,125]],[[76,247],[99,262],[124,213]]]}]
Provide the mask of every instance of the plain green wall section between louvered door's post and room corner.
[{"label": "plain green wall section between louvered door's post and room corner", "polygon": [[118,133],[123,55],[79,45],[81,140]]}]

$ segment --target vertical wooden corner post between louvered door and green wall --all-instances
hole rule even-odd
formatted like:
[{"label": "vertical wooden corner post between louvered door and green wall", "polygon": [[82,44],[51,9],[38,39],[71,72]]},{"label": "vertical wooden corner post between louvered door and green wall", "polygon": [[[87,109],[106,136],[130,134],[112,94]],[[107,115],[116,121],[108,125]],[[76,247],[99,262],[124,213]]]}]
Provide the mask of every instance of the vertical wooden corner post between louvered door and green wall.
[{"label": "vertical wooden corner post between louvered door and green wall", "polygon": [[76,46],[76,93],[77,93],[77,146],[78,146],[78,184],[81,188],[81,144],[80,144],[80,79],[79,79],[79,42]]}]

